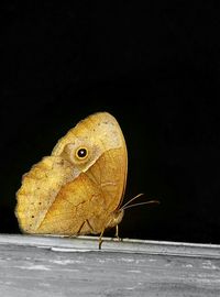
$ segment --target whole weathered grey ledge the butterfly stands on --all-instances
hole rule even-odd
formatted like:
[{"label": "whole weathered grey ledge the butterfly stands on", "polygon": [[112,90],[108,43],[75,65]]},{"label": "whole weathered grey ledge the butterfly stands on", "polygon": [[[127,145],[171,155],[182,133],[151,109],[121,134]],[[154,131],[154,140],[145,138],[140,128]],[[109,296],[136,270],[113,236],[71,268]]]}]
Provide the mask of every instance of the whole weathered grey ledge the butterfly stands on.
[{"label": "whole weathered grey ledge the butterfly stands on", "polygon": [[220,296],[220,246],[0,237],[0,296]]}]

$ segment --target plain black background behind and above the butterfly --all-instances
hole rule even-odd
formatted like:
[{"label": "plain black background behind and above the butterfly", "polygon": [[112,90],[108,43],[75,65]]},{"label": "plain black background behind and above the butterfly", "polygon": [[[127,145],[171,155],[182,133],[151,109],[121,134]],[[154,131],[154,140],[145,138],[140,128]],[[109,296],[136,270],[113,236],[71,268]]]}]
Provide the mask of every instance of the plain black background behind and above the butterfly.
[{"label": "plain black background behind and above the butterfly", "polygon": [[0,232],[21,176],[79,120],[109,111],[129,151],[120,235],[220,243],[220,18],[208,4],[44,1],[1,10]]}]

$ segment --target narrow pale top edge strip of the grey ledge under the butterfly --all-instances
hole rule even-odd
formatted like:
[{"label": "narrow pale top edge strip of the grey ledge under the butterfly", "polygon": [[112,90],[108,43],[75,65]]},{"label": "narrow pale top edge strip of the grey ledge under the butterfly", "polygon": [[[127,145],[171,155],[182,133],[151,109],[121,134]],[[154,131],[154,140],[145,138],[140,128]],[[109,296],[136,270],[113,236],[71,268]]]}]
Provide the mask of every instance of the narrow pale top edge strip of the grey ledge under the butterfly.
[{"label": "narrow pale top edge strip of the grey ledge under the butterfly", "polygon": [[22,245],[50,249],[54,252],[118,252],[179,255],[197,257],[220,257],[220,245],[172,241],[102,238],[101,251],[98,250],[99,237],[58,237],[0,234],[0,245]]}]

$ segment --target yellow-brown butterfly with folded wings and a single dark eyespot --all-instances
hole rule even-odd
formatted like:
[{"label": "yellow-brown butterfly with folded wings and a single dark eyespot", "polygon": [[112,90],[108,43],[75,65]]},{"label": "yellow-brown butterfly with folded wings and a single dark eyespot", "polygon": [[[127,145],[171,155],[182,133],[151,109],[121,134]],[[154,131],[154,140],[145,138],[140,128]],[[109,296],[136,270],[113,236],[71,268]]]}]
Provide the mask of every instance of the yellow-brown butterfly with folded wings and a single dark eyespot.
[{"label": "yellow-brown butterfly with folded wings and a single dark eyespot", "polygon": [[125,141],[107,112],[91,114],[32,166],[16,193],[15,216],[25,233],[102,234],[123,217]]}]

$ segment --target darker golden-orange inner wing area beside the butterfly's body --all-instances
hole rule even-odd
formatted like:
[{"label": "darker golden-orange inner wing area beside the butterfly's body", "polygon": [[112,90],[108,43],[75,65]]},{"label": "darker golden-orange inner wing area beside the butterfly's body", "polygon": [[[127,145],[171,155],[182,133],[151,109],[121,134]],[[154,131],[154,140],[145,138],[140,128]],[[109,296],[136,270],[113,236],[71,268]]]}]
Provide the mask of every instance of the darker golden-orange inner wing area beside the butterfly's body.
[{"label": "darker golden-orange inner wing area beside the butterfly's body", "polygon": [[119,150],[106,152],[86,173],[64,185],[37,233],[100,233],[123,189],[120,156]]}]

